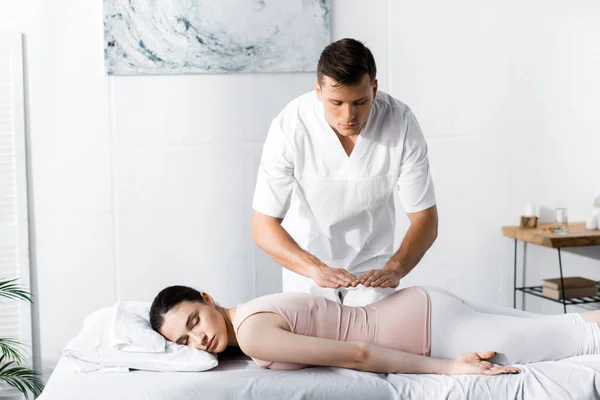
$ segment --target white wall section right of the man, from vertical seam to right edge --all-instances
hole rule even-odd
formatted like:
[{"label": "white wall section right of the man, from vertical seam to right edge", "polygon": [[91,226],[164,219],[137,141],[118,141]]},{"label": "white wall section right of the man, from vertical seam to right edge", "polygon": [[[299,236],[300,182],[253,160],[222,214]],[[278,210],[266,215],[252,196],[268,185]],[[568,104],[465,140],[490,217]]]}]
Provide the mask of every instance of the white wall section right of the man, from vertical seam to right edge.
[{"label": "white wall section right of the man, from vertical seam to right edge", "polygon": [[[514,243],[500,226],[532,202],[581,221],[600,194],[600,4],[402,1],[390,15],[390,92],[425,131],[440,212],[405,283],[512,305]],[[592,258],[564,254],[565,274],[599,279],[600,248],[577,253]],[[558,275],[556,250],[529,246],[527,261],[528,285]]]}]

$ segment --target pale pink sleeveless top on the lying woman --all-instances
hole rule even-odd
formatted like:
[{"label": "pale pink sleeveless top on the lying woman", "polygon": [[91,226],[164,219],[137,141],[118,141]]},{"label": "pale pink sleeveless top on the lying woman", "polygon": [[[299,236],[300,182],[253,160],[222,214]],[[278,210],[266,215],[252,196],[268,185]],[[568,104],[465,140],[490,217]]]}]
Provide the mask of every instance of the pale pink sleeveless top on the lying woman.
[{"label": "pale pink sleeveless top on the lying woman", "polygon": [[[418,286],[396,291],[376,303],[351,307],[305,293],[278,293],[240,304],[236,334],[250,316],[272,312],[293,333],[342,341],[362,341],[413,354],[429,355],[429,295]],[[253,359],[263,368],[299,369],[306,365]]]}]

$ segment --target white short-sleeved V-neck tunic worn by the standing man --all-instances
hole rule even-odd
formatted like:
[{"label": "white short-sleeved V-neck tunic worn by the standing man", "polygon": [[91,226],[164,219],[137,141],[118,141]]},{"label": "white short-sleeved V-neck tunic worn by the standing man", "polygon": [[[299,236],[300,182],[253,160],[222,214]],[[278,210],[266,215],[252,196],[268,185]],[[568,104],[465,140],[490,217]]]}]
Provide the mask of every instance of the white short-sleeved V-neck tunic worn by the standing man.
[{"label": "white short-sleeved V-neck tunic worn by the standing man", "polygon": [[394,253],[394,188],[408,213],[435,205],[427,144],[408,106],[377,92],[350,156],[314,91],[273,120],[254,210],[284,218],[300,247],[325,264],[364,272]]}]

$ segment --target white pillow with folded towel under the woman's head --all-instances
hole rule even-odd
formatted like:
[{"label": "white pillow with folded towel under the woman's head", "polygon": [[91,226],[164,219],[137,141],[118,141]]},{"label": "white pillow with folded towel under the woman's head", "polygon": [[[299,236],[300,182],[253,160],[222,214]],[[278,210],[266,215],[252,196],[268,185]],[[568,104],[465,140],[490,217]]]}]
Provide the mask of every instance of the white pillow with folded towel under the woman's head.
[{"label": "white pillow with folded towel under the woman's head", "polygon": [[[123,305],[119,308],[129,309]],[[93,312],[85,318],[79,335],[67,344],[63,355],[71,361],[70,364],[74,365],[76,371],[108,372],[124,371],[126,368],[149,371],[205,371],[217,366],[217,359],[211,353],[172,342],[166,342],[163,352],[143,350],[146,346],[140,346],[141,343],[137,340],[135,343],[119,342],[120,347],[131,346],[136,349],[135,352],[115,348],[115,334],[112,329],[115,312],[116,307]],[[119,340],[132,335],[122,332],[134,332],[139,328],[129,329],[126,322],[123,324],[117,335],[121,338]],[[147,329],[152,330],[149,326]]]}]

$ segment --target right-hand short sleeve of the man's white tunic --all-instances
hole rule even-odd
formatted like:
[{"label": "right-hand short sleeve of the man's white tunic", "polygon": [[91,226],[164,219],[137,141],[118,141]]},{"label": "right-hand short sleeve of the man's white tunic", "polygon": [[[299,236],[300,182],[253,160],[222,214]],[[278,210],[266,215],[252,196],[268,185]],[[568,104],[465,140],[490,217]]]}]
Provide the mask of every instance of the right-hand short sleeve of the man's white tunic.
[{"label": "right-hand short sleeve of the man's white tunic", "polygon": [[411,111],[407,113],[398,191],[400,203],[407,213],[423,211],[436,204],[427,143]]}]

